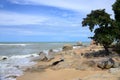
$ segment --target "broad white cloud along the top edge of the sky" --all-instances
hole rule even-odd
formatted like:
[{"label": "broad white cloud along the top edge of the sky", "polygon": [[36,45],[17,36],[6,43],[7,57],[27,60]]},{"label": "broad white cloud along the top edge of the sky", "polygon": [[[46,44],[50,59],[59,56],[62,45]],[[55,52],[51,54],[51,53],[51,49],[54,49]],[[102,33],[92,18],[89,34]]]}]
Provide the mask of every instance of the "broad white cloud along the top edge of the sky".
[{"label": "broad white cloud along the top edge of the sky", "polygon": [[75,11],[88,12],[94,9],[105,8],[112,13],[111,5],[115,0],[9,0],[15,4],[23,5],[48,5]]}]

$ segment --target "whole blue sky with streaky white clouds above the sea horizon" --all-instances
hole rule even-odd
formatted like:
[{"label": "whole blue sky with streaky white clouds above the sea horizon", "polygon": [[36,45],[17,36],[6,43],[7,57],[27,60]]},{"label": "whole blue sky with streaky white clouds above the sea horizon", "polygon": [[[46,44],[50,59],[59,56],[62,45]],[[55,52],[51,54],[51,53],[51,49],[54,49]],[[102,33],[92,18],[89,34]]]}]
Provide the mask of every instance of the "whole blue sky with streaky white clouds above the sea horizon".
[{"label": "whole blue sky with streaky white clouds above the sea horizon", "polygon": [[114,17],[115,0],[0,0],[0,42],[90,41],[82,20],[91,10]]}]

